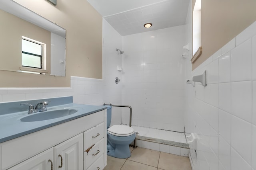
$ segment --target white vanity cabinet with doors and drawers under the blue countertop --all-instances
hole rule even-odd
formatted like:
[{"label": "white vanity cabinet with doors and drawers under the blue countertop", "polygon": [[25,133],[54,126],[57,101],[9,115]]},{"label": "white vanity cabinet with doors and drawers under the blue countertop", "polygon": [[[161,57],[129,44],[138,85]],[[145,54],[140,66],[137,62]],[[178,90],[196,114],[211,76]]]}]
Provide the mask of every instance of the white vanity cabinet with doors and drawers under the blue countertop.
[{"label": "white vanity cabinet with doors and drawers under the blue countertop", "polygon": [[[105,126],[106,110],[102,110],[0,143],[0,170],[86,170],[85,164],[103,169],[106,166]],[[86,132],[92,133],[92,140]],[[92,151],[100,150],[93,156],[96,159],[84,157],[87,141],[96,144]],[[100,141],[103,142],[99,145]]]}]

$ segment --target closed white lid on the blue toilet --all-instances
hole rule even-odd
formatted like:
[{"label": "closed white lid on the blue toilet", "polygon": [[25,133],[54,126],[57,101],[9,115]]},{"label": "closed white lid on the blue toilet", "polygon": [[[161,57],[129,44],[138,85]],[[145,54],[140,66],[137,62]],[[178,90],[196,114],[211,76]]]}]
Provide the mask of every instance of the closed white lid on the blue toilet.
[{"label": "closed white lid on the blue toilet", "polygon": [[134,134],[134,129],[126,125],[113,125],[108,128],[108,133],[114,136],[130,136]]}]

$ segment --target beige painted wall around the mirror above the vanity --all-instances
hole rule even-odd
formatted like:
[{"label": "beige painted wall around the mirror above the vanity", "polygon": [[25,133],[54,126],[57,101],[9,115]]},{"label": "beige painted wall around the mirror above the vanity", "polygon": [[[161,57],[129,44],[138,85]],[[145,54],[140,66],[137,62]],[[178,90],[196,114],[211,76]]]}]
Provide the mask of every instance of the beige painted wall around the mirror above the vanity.
[{"label": "beige painted wall around the mirror above the vanity", "polygon": [[102,16],[86,0],[14,0],[66,29],[66,77],[0,70],[0,87],[70,87],[70,76],[102,78]]}]

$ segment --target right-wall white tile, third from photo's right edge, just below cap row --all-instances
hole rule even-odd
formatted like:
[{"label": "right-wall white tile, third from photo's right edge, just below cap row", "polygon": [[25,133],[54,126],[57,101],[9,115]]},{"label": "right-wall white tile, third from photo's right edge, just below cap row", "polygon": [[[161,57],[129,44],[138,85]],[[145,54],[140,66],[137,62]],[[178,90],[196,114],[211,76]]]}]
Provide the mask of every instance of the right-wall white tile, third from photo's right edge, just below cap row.
[{"label": "right-wall white tile, third from photo's right edge, just below cap row", "polygon": [[219,60],[219,70],[218,70],[218,80],[219,82],[230,82],[231,67],[230,67],[230,55],[231,53],[226,53],[222,55]]}]

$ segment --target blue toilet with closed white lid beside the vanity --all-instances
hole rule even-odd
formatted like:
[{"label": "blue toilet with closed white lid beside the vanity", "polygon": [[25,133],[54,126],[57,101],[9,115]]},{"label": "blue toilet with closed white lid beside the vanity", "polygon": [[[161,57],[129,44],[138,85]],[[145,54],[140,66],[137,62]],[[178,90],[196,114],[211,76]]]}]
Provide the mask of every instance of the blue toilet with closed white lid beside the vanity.
[{"label": "blue toilet with closed white lid beside the vanity", "polygon": [[126,125],[112,125],[112,106],[107,106],[107,155],[116,158],[129,158],[130,143],[135,139],[134,129]]}]

